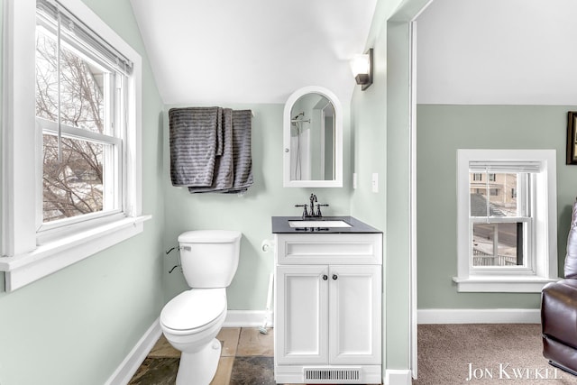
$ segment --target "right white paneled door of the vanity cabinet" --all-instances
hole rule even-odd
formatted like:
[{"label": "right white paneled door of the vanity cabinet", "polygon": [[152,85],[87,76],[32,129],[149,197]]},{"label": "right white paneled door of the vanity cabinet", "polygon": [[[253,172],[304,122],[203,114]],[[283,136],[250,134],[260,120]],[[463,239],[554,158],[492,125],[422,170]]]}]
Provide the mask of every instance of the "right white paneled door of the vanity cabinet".
[{"label": "right white paneled door of the vanity cabinet", "polygon": [[382,267],[329,268],[329,362],[380,364]]}]

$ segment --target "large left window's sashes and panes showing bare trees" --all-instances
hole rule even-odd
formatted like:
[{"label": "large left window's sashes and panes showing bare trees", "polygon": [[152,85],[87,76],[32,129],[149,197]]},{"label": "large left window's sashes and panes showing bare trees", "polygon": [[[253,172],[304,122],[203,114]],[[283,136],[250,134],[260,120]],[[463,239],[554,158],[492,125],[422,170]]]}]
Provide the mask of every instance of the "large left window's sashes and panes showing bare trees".
[{"label": "large left window's sashes and panes showing bare trees", "polygon": [[87,215],[114,214],[123,206],[124,100],[132,63],[93,34],[62,6],[37,1],[42,231]]}]

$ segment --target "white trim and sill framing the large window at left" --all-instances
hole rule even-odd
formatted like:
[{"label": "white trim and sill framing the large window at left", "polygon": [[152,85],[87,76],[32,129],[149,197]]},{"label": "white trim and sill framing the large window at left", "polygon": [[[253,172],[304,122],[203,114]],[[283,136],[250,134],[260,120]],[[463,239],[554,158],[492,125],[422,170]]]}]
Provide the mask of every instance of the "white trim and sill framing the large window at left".
[{"label": "white trim and sill framing the large window at left", "polygon": [[38,149],[33,144],[36,142],[35,78],[31,75],[35,66],[36,1],[5,0],[0,271],[5,271],[6,291],[21,288],[141,233],[142,222],[151,218],[151,215],[142,215],[142,59],[80,0],[59,1],[133,61],[133,73],[127,85],[131,93],[125,139],[127,207],[124,215],[113,222],[79,232],[67,231],[64,236],[37,246],[36,206],[32,203],[36,199],[35,153]]}]

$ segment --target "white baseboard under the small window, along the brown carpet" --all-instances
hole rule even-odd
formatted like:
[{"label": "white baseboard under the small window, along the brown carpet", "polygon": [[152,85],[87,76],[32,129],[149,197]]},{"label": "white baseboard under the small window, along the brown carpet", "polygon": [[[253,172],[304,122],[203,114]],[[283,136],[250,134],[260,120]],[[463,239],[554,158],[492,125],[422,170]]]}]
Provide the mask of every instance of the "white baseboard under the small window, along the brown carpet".
[{"label": "white baseboard under the small window, along the brown carpet", "polygon": [[541,310],[520,309],[419,309],[417,324],[539,324]]}]

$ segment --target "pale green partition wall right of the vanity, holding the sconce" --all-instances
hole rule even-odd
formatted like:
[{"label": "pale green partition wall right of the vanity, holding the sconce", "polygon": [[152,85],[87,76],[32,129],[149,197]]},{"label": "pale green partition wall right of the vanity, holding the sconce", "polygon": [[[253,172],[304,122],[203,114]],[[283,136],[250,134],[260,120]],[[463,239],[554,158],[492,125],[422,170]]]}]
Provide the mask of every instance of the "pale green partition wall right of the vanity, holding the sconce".
[{"label": "pale green partition wall right of the vanity, holding the sconce", "polygon": [[[409,147],[403,121],[408,118],[408,105],[403,105],[408,100],[403,83],[408,83],[408,60],[401,55],[390,60],[388,55],[391,49],[408,54],[408,30],[404,23],[397,29],[387,23],[401,3],[377,3],[367,41],[367,49],[374,49],[373,84],[365,91],[355,87],[352,101],[352,161],[358,188],[353,190],[351,213],[384,232],[384,369],[410,367]],[[397,71],[392,78],[391,69]],[[377,193],[372,192],[372,173],[379,174]]]}]

